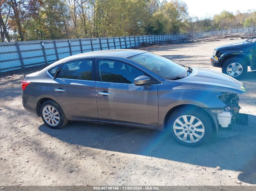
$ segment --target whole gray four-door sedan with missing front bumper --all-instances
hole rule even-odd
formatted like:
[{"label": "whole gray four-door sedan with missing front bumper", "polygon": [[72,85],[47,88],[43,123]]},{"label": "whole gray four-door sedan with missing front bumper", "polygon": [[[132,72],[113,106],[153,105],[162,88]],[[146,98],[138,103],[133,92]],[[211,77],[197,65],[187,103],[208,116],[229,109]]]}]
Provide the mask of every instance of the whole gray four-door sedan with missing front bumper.
[{"label": "whole gray four-door sedan with missing front bumper", "polygon": [[61,59],[22,81],[22,104],[54,129],[69,120],[167,130],[199,146],[238,118],[242,83],[142,50]]}]

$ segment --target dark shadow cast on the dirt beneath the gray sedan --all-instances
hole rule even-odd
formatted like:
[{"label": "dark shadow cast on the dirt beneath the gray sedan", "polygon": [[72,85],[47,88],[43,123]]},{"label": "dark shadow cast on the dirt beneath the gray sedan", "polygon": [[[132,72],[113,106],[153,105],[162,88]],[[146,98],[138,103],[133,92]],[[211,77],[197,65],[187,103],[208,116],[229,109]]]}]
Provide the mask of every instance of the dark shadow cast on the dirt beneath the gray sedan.
[{"label": "dark shadow cast on the dirt beneath the gray sedan", "polygon": [[234,137],[212,136],[197,148],[178,145],[166,132],[99,123],[70,122],[59,130],[43,124],[39,130],[69,144],[241,171],[239,180],[256,183],[255,122],[256,116],[249,115],[249,126],[237,126]]}]

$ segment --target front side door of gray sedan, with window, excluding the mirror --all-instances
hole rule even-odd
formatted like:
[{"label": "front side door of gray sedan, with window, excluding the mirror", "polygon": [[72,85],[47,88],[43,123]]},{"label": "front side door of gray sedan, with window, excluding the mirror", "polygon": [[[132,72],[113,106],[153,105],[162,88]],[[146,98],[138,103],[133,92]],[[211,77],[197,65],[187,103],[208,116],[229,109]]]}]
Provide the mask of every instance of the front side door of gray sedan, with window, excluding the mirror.
[{"label": "front side door of gray sedan, with window, excluding the mirror", "polygon": [[[157,80],[135,66],[112,59],[95,59],[98,118],[102,121],[144,126],[158,124]],[[134,79],[151,77],[151,85]]]}]

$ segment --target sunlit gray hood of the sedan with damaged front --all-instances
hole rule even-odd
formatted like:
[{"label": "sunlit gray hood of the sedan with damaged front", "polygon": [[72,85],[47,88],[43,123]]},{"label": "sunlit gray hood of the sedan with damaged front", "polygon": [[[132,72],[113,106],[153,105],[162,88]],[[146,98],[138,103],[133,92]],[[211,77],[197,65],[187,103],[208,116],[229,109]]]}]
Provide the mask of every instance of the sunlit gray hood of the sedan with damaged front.
[{"label": "sunlit gray hood of the sedan with damaged front", "polygon": [[193,72],[190,75],[177,80],[184,88],[234,94],[247,92],[244,84],[226,74],[201,68],[192,69]]}]

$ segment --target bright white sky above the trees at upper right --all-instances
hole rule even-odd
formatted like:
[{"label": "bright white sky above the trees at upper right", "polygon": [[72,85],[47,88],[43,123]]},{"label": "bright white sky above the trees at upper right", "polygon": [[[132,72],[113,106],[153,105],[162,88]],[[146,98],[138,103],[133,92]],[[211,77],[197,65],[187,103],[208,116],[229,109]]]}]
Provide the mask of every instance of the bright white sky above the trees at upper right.
[{"label": "bright white sky above the trees at upper right", "polygon": [[256,9],[256,0],[181,0],[188,6],[190,16],[205,18],[205,16],[214,16],[221,11],[226,10],[241,13],[247,12],[248,9]]}]

